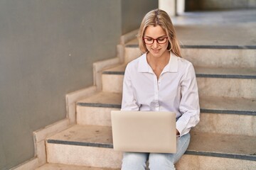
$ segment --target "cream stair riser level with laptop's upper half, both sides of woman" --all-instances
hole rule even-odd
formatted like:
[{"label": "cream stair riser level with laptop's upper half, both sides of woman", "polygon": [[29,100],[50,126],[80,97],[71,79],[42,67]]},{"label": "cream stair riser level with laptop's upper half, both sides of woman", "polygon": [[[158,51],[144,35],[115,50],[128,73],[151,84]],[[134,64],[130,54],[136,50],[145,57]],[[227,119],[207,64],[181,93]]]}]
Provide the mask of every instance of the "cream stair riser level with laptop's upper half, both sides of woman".
[{"label": "cream stair riser level with laptop's upper half, both sides of woman", "polygon": [[[119,108],[77,106],[78,125],[111,126],[111,111]],[[226,135],[256,135],[255,115],[201,113],[200,122],[193,128],[196,132],[216,132]]]}]

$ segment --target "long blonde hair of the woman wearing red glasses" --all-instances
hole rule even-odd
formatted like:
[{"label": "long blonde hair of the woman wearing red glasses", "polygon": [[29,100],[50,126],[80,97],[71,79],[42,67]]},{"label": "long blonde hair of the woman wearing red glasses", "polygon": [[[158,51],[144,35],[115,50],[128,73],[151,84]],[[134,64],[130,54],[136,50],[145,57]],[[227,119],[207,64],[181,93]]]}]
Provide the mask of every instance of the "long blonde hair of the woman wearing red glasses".
[{"label": "long blonde hair of the woman wearing red glasses", "polygon": [[174,25],[171,22],[169,15],[161,9],[154,9],[149,11],[149,13],[146,13],[142,20],[139,33],[137,35],[139,40],[139,50],[141,50],[141,52],[144,53],[148,51],[143,41],[144,33],[148,26],[161,26],[161,28],[166,31],[168,36],[169,44],[167,50],[173,52],[176,56],[181,57],[181,47],[178,44],[178,40],[176,38]]}]

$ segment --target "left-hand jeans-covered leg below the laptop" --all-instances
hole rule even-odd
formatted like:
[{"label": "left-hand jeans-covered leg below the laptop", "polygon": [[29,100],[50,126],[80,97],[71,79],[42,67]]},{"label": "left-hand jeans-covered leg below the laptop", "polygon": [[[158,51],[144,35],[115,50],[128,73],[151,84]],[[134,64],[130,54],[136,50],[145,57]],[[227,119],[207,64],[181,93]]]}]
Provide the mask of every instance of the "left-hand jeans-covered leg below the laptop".
[{"label": "left-hand jeans-covered leg below the laptop", "polygon": [[149,154],[137,152],[124,152],[122,170],[144,170]]}]

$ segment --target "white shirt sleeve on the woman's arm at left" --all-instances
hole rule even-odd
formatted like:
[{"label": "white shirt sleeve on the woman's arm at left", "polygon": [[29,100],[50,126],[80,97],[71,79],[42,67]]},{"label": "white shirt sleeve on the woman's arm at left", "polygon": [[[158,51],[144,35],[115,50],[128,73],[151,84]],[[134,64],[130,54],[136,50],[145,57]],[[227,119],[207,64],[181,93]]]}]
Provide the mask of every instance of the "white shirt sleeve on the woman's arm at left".
[{"label": "white shirt sleeve on the woman's arm at left", "polygon": [[123,91],[122,91],[122,111],[139,111],[134,90],[132,88],[131,73],[129,72],[129,64],[124,72]]}]

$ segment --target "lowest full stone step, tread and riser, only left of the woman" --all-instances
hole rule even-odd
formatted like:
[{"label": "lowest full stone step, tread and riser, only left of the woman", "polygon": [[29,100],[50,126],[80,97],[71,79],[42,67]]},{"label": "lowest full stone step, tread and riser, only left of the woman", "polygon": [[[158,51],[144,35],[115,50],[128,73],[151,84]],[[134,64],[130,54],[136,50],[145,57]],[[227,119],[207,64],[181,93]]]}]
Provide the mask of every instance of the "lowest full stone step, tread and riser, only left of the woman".
[{"label": "lowest full stone step, tread and riser, only left of the woman", "polygon": [[117,169],[122,153],[112,149],[110,127],[75,125],[46,140],[47,162]]}]

